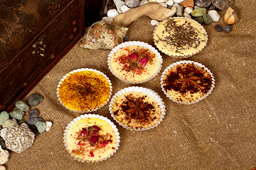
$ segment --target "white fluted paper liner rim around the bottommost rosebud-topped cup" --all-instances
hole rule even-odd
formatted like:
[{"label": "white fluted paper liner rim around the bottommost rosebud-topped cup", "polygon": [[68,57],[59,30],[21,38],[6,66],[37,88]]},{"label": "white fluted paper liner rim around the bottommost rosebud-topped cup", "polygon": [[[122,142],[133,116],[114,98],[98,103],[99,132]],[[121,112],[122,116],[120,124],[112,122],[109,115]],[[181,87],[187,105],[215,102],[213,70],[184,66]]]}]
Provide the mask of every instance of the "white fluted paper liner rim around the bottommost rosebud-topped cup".
[{"label": "white fluted paper liner rim around the bottommost rosebud-topped cup", "polygon": [[[82,120],[84,118],[99,118],[101,120],[104,120],[106,123],[108,123],[113,128],[115,134],[117,135],[117,145],[116,145],[115,149],[113,150],[113,152],[108,157],[105,157],[105,158],[99,159],[99,160],[95,160],[95,161],[90,161],[90,160],[85,160],[85,159],[81,159],[80,157],[77,157],[75,154],[72,153],[72,151],[70,149],[68,149],[68,145],[67,145],[68,130],[74,123],[76,123],[76,122],[78,122],[78,120]],[[107,158],[110,158],[115,152],[117,152],[117,149],[118,149],[119,143],[120,143],[120,136],[119,136],[119,132],[118,132],[116,125],[114,125],[114,123],[112,123],[112,121],[110,121],[108,118],[106,118],[102,115],[87,114],[87,115],[80,115],[77,118],[73,119],[70,123],[68,123],[68,126],[65,128],[65,131],[64,131],[63,142],[65,145],[65,148],[68,150],[68,153],[71,155],[71,157],[73,157],[73,159],[77,160],[78,162],[92,163],[92,162],[101,162],[103,160],[106,160]]]}]

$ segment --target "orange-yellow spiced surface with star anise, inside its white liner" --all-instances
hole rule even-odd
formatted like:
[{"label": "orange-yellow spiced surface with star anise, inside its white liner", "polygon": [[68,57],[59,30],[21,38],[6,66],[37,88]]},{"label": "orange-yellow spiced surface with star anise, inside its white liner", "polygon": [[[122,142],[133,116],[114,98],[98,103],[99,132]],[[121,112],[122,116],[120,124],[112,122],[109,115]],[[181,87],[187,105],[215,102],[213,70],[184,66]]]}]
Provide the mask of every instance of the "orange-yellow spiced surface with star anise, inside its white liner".
[{"label": "orange-yellow spiced surface with star anise, inside its white liner", "polygon": [[60,84],[58,94],[66,107],[74,111],[88,111],[107,101],[110,83],[98,72],[75,72]]}]

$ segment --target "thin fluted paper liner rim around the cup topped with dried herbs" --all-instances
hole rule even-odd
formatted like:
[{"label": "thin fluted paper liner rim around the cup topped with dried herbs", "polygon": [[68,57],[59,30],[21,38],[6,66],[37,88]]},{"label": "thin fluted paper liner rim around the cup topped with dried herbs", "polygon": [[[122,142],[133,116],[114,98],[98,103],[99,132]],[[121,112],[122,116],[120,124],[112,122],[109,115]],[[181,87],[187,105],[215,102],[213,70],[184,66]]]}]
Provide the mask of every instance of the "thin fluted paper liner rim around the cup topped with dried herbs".
[{"label": "thin fluted paper liner rim around the cup topped with dried herbs", "polygon": [[[186,19],[186,20],[188,20],[188,21],[193,21],[193,22],[198,23],[197,21],[195,21],[195,20],[193,20],[193,19],[185,18],[185,17],[171,17],[171,18],[184,18],[184,19]],[[168,18],[168,19],[166,19],[166,20],[169,20],[169,19],[170,19],[170,18]],[[154,39],[154,34],[155,34],[155,31],[156,31],[156,28],[157,28],[161,23],[164,23],[166,20],[161,21],[159,24],[156,25],[156,27],[154,28],[154,31],[153,31],[153,39]],[[154,44],[156,45],[156,47],[157,47],[161,52],[163,52],[164,54],[166,54],[166,55],[168,55],[168,56],[170,56],[170,57],[174,57],[174,58],[187,58],[187,57],[191,57],[191,56],[193,56],[193,55],[196,55],[198,52],[201,52],[201,50],[203,50],[204,47],[206,47],[206,44],[207,44],[207,41],[208,41],[208,35],[207,35],[206,30],[203,28],[203,26],[202,26],[200,23],[198,23],[198,25],[201,26],[201,28],[202,28],[203,31],[205,32],[207,39],[206,39],[205,45],[204,45],[201,49],[198,49],[197,52],[193,52],[193,53],[191,53],[190,55],[182,55],[182,56],[181,56],[181,55],[172,55],[172,54],[169,53],[169,52],[163,52],[163,51],[159,48],[159,45],[156,43],[156,40],[154,40]]]}]

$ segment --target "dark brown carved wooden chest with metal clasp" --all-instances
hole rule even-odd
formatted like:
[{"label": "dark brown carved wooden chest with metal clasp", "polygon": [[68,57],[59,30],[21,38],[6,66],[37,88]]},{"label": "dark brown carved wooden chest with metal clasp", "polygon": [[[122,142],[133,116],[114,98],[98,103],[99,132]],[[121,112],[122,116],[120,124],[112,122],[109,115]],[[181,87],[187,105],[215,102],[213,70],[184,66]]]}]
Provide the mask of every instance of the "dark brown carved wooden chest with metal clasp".
[{"label": "dark brown carved wooden chest with metal clasp", "polygon": [[0,111],[10,111],[85,32],[83,0],[0,1]]}]

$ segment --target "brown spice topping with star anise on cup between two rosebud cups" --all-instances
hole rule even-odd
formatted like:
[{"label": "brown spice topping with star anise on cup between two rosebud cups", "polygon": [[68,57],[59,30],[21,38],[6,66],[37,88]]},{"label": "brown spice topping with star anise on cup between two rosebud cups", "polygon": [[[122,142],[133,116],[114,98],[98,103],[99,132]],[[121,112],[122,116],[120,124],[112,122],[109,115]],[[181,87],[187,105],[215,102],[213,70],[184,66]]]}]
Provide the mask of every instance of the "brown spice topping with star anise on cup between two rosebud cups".
[{"label": "brown spice topping with star anise on cup between two rosebud cups", "polygon": [[120,123],[132,128],[153,126],[159,120],[161,111],[158,103],[147,100],[148,96],[146,95],[139,95],[138,97],[127,94],[120,103],[118,102],[119,104],[114,104],[117,105],[117,109],[113,110],[114,115]]}]

